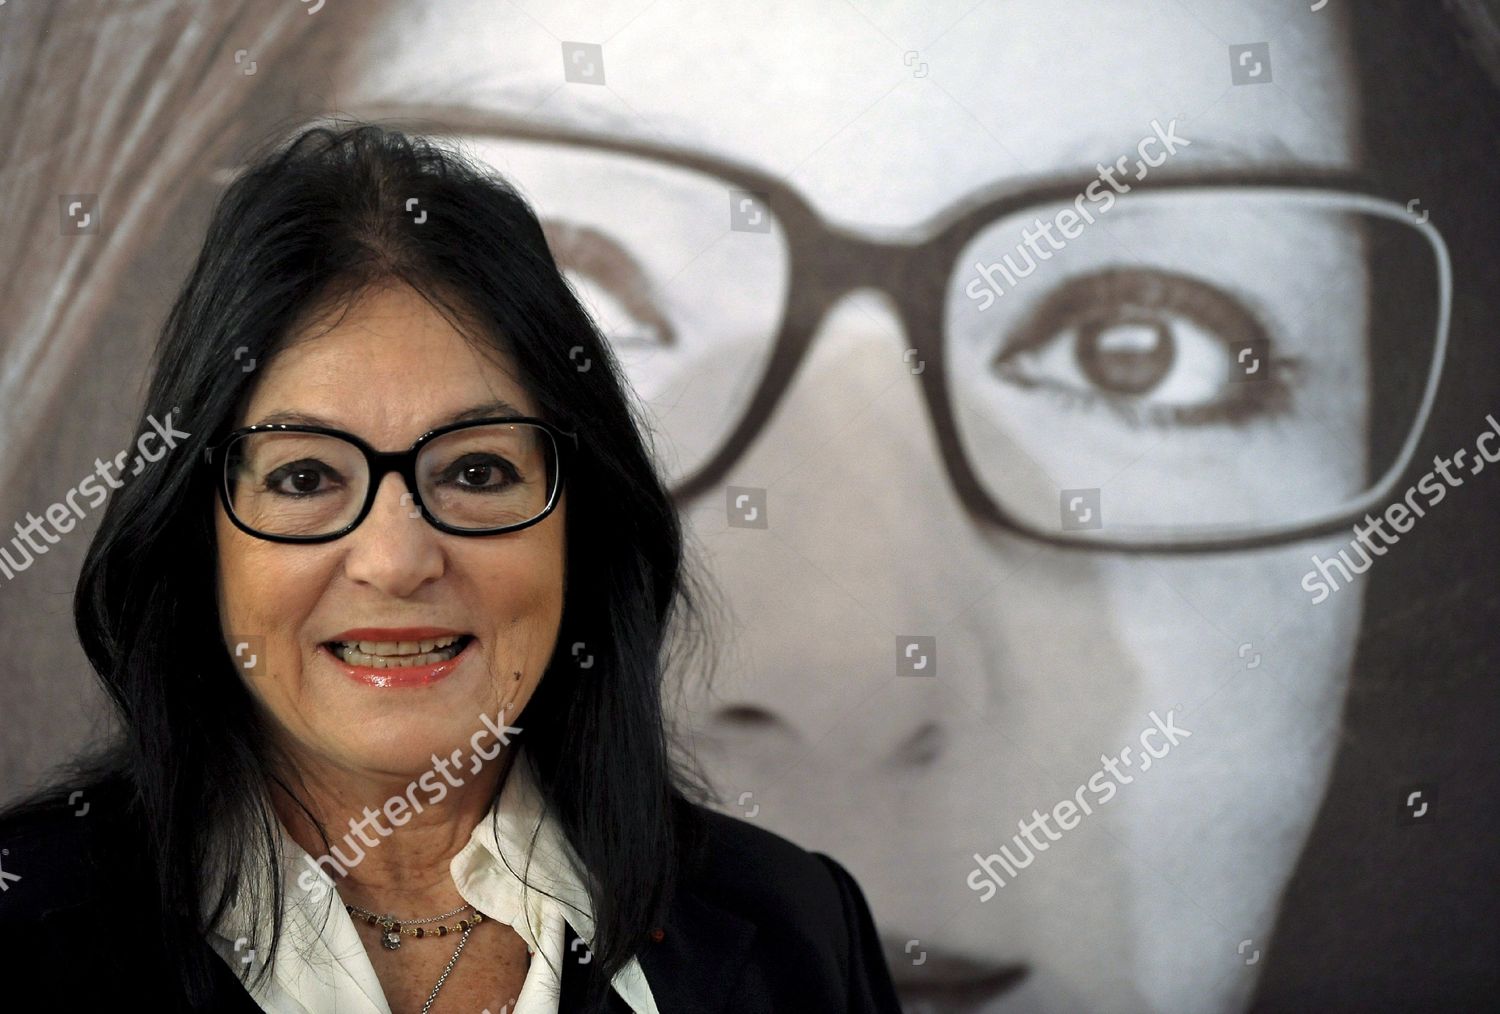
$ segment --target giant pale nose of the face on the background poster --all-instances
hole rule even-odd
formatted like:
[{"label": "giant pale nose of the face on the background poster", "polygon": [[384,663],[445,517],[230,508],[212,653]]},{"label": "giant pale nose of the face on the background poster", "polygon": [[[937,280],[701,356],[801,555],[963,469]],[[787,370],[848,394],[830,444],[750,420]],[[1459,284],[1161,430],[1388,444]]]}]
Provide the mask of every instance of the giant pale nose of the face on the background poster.
[{"label": "giant pale nose of the face on the background poster", "polygon": [[966,610],[1016,548],[952,492],[908,346],[884,294],[840,300],[724,478],[765,490],[766,528],[692,512],[735,615],[705,732],[741,758],[926,764],[988,704]]}]

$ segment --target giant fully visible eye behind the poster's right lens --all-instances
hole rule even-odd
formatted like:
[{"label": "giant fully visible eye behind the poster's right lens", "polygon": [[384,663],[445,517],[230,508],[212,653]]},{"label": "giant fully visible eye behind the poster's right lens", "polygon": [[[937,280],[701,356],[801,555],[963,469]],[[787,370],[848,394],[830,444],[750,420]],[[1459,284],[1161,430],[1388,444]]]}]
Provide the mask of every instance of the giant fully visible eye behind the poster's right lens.
[{"label": "giant fully visible eye behind the poster's right lens", "polygon": [[[1246,348],[1268,350],[1258,376],[1236,354]],[[1282,408],[1292,364],[1224,290],[1138,268],[1070,280],[993,360],[994,372],[1018,387],[1104,405],[1131,423],[1178,426]]]}]

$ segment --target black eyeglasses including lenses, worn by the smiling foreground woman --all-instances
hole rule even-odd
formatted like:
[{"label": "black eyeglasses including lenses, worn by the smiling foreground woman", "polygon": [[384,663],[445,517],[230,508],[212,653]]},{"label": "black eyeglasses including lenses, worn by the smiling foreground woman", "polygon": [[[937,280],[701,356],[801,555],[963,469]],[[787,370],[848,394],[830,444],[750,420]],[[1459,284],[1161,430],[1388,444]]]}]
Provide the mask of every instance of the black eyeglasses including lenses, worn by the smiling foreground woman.
[{"label": "black eyeglasses including lenses, worn by the smiling foreground woman", "polygon": [[402,502],[450,536],[498,536],[556,507],[578,434],[530,416],[478,418],[429,430],[404,452],[378,452],[326,426],[246,426],[204,450],[219,462],[219,498],[240,531],[282,543],[350,534],[369,514],[387,472]]}]

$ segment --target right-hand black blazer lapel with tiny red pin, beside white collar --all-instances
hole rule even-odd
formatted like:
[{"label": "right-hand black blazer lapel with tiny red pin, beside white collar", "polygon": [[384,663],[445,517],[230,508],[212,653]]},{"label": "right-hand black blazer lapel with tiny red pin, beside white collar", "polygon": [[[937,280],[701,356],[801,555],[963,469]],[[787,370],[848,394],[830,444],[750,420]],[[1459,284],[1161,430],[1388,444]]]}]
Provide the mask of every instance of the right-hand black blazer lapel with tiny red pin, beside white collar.
[{"label": "right-hand black blazer lapel with tiny red pin, beside white collar", "polygon": [[[636,958],[645,972],[657,1011],[723,1011],[750,958],[754,922],[696,894],[680,891],[662,928],[662,939],[646,942]],[[580,1014],[584,1010],[584,968],[567,960],[573,954],[574,938],[573,927],[567,926],[558,1014]],[[610,1014],[628,1014],[630,1006],[610,990],[606,1010]]]}]

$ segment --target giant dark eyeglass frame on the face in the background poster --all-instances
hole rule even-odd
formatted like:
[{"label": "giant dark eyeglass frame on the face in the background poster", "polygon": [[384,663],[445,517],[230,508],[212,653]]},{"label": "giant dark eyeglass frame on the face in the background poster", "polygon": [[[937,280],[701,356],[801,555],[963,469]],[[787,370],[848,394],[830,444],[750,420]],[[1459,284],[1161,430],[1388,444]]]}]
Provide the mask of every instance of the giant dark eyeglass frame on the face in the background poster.
[{"label": "giant dark eyeglass frame on the face in the background poster", "polygon": [[[960,502],[975,518],[1024,538],[1060,549],[1089,549],[1116,554],[1202,554],[1262,549],[1312,538],[1338,531],[1384,498],[1412,465],[1416,446],[1426,428],[1437,398],[1438,380],[1448,350],[1448,333],[1452,316],[1452,264],[1442,232],[1430,220],[1416,219],[1410,206],[1386,192],[1370,174],[1338,168],[1268,168],[1268,170],[1196,170],[1179,171],[1173,166],[1150,166],[1148,178],[1130,180],[1128,192],[1197,190],[1197,189],[1244,189],[1244,190],[1293,190],[1344,195],[1378,202],[1384,210],[1406,208],[1406,225],[1418,230],[1432,246],[1438,274],[1438,320],[1432,346],[1432,362],[1428,370],[1422,402],[1416,418],[1401,446],[1400,459],[1384,477],[1348,506],[1328,512],[1320,518],[1250,531],[1240,536],[1222,536],[1209,530],[1197,538],[1124,538],[1107,536],[1089,537],[1068,534],[1028,525],[1011,514],[978,478],[978,471],[969,464],[963,441],[954,420],[952,399],[948,392],[946,372],[942,369],[942,346],[945,339],[945,314],[948,308],[948,284],[956,278],[958,254],[988,225],[1014,216],[1017,212],[1054,206],[1074,198],[1098,180],[1098,176],[1005,180],[981,188],[954,201],[945,208],[927,216],[921,224],[904,230],[888,231],[885,237],[872,238],[842,226],[819,213],[788,182],[746,162],[682,148],[674,144],[624,138],[568,124],[542,124],[522,116],[476,110],[447,104],[370,104],[362,106],[366,122],[378,122],[392,129],[424,134],[438,138],[458,136],[494,138],[500,141],[540,141],[585,150],[614,152],[692,170],[748,192],[765,206],[786,237],[788,290],[782,308],[777,334],[771,339],[771,354],[765,360],[756,392],[747,402],[740,418],[729,428],[728,436],[708,460],[687,477],[672,483],[672,495],[678,501],[690,501],[718,483],[729,468],[740,460],[754,438],[765,429],[772,411],[790,388],[802,360],[812,348],[818,326],[828,310],[848,292],[861,288],[876,288],[891,297],[897,316],[909,342],[924,364],[938,369],[922,369],[922,400],[927,416],[936,430],[936,444],[944,460],[948,482]],[[1118,162],[1116,162],[1118,165]],[[1138,170],[1144,166],[1137,166]],[[524,182],[522,182],[524,183]],[[1112,188],[1113,189],[1113,188]],[[734,190],[729,194],[735,196]],[[1100,214],[1102,216],[1102,210]],[[898,234],[908,238],[898,238]],[[915,238],[912,238],[915,237]],[[922,309],[927,308],[927,309]],[[1230,526],[1238,528],[1238,526]]]}]

